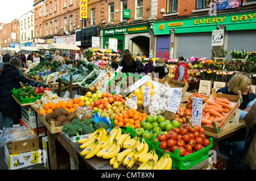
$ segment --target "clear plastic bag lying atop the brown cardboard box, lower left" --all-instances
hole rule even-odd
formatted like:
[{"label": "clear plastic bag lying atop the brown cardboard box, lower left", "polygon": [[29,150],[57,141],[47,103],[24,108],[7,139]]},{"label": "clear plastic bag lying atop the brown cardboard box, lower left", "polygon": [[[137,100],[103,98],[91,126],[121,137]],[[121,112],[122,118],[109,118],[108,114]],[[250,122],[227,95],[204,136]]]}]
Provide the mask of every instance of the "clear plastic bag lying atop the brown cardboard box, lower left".
[{"label": "clear plastic bag lying atop the brown cardboard box, lower left", "polygon": [[5,146],[8,142],[29,140],[36,138],[36,134],[32,128],[20,127],[5,128],[0,136],[0,146]]}]

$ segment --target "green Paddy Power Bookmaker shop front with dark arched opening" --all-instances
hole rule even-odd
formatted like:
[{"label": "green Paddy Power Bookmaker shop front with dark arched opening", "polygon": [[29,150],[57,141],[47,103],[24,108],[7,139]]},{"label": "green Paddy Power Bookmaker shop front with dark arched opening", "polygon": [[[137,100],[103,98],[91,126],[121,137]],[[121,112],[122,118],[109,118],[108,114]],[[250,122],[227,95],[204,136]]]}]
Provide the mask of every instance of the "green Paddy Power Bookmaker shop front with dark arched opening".
[{"label": "green Paddy Power Bookmaker shop front with dark arched opening", "polygon": [[117,49],[122,53],[129,49],[133,56],[150,53],[150,24],[123,26],[102,30],[103,48],[109,48],[109,40],[117,39]]}]

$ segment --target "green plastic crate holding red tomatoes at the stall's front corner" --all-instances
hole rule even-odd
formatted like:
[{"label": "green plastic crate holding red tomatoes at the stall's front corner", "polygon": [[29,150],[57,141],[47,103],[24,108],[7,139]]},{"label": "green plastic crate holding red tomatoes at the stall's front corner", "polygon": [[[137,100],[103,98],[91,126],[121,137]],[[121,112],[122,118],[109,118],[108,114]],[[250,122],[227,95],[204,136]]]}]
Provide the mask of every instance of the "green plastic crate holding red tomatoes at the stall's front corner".
[{"label": "green plastic crate holding red tomatoes at the stall's front corner", "polygon": [[[175,149],[174,153],[167,152],[170,155],[170,157],[172,158],[172,168],[175,167],[179,170],[186,170],[189,167],[192,167],[192,166],[196,165],[197,163],[209,158],[209,151],[213,145],[212,137],[210,137],[209,140],[210,140],[209,146],[207,146],[199,151],[196,151],[195,153],[189,154],[185,157],[180,157],[180,152],[178,149]],[[162,157],[162,155],[163,155],[163,149],[159,148],[159,143],[160,143],[159,141],[156,141],[155,145],[153,145],[153,149],[156,150],[156,154],[158,154],[158,157],[160,159],[160,157]]]}]

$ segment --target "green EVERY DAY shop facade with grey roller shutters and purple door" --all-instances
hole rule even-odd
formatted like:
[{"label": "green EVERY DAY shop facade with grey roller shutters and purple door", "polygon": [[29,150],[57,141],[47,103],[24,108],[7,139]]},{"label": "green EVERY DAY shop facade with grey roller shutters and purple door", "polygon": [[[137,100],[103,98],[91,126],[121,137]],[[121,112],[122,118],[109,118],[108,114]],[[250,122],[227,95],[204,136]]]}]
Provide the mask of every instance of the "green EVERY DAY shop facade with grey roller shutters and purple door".
[{"label": "green EVERY DAY shop facade with grey roller shutters and purple door", "polygon": [[[155,57],[212,58],[212,31],[224,30],[218,48],[256,51],[256,11],[154,23]],[[231,59],[228,53],[226,58]]]}]

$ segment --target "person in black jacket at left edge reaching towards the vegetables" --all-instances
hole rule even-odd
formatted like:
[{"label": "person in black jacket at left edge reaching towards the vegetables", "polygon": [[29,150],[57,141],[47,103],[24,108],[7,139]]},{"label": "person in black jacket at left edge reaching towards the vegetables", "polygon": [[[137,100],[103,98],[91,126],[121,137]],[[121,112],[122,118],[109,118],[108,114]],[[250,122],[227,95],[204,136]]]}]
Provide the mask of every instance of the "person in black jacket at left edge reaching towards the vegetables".
[{"label": "person in black jacket at left edge reaching towards the vegetables", "polygon": [[3,65],[0,75],[0,112],[3,117],[3,127],[13,126],[13,117],[18,114],[21,118],[21,108],[13,99],[11,90],[20,89],[20,82],[30,83],[31,80],[19,73],[22,61],[18,57],[13,57],[10,62]]}]

